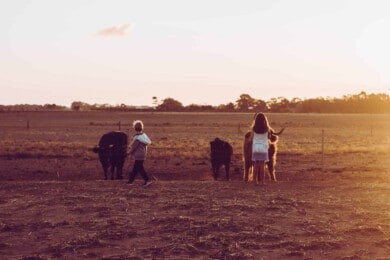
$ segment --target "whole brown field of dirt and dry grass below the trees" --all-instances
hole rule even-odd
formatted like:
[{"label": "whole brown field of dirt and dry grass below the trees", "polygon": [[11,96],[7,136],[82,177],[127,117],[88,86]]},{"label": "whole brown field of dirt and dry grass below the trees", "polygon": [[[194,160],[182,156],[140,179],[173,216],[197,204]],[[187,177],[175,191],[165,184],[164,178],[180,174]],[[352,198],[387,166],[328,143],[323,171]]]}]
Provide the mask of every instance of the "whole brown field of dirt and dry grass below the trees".
[{"label": "whole brown field of dirt and dry grass below the trees", "polygon": [[[278,182],[256,186],[241,181],[253,114],[0,113],[0,258],[389,259],[390,115],[267,116],[286,127]],[[135,119],[148,188],[104,181],[91,151]],[[212,179],[215,137],[233,145],[229,182]]]}]

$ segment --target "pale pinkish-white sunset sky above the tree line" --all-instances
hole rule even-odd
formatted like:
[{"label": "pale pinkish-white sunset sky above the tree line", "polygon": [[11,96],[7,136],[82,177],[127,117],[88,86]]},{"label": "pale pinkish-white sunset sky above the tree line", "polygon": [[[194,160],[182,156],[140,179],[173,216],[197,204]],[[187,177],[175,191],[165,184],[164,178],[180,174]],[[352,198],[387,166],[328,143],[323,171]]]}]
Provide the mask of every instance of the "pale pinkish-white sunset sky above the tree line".
[{"label": "pale pinkish-white sunset sky above the tree line", "polygon": [[2,0],[0,104],[390,94],[388,0]]}]

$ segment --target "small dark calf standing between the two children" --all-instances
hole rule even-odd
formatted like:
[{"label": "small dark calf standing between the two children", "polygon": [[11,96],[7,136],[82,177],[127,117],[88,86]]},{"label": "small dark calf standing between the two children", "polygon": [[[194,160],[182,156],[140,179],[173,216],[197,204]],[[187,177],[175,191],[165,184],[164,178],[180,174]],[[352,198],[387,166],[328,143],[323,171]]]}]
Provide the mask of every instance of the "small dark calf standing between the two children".
[{"label": "small dark calf standing between the two children", "polygon": [[211,167],[214,180],[218,179],[219,168],[224,165],[226,171],[226,180],[229,180],[230,161],[233,154],[233,147],[219,138],[210,142]]}]

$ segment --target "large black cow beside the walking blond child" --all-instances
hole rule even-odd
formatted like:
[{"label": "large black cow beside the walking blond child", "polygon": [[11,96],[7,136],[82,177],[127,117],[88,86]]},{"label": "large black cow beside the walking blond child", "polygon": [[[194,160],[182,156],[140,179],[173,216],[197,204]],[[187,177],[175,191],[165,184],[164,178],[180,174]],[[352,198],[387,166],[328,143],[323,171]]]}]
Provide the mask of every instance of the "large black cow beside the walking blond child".
[{"label": "large black cow beside the walking blond child", "polygon": [[103,167],[104,179],[108,178],[108,168],[111,167],[111,180],[123,179],[123,165],[127,156],[127,134],[123,132],[109,132],[104,134],[99,145],[93,148],[93,152],[99,154],[99,160]]}]

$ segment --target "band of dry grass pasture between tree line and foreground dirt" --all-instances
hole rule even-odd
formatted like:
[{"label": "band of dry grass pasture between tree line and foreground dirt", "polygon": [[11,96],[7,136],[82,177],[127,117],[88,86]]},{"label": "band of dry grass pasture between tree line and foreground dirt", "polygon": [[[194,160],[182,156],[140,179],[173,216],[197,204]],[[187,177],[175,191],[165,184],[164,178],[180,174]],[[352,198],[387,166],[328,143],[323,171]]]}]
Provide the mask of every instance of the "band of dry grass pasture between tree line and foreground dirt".
[{"label": "band of dry grass pasture between tree line and foreground dirt", "polygon": [[[242,139],[252,117],[251,113],[1,113],[0,158],[7,159],[5,168],[14,167],[14,159],[53,159],[55,168],[45,171],[81,171],[83,176],[98,177],[101,169],[91,148],[102,134],[118,130],[118,122],[131,137],[132,121],[142,119],[152,139],[146,166],[155,175],[203,179],[199,172],[210,171],[209,142],[215,137],[232,144],[232,168],[240,175]],[[390,168],[380,159],[390,153],[389,115],[269,114],[268,118],[276,131],[286,127],[278,145],[277,172],[283,178],[302,171]],[[361,160],[367,166],[356,167]],[[42,163],[30,172],[37,171],[42,171]]]}]

